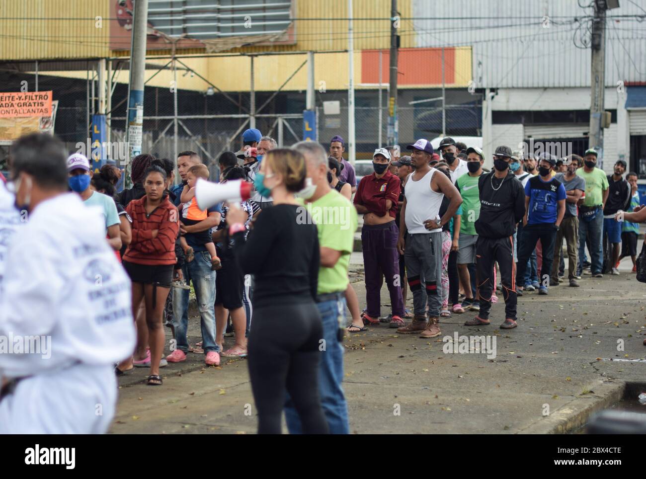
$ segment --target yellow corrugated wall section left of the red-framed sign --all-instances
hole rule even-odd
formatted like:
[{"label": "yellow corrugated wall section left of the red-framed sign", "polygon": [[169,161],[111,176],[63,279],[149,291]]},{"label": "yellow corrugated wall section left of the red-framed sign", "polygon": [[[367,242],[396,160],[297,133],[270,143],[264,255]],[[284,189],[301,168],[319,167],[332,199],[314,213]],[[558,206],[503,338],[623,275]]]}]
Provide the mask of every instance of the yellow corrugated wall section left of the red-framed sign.
[{"label": "yellow corrugated wall section left of the red-framed sign", "polygon": [[[0,0],[0,60],[110,56],[109,0]],[[103,28],[96,28],[96,17]]]}]

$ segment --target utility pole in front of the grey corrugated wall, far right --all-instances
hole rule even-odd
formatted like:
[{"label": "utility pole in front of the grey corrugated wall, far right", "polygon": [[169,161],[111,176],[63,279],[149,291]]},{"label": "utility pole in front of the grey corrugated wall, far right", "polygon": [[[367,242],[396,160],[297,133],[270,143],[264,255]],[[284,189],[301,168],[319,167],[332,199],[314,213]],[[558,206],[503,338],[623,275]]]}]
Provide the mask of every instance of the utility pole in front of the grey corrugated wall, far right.
[{"label": "utility pole in front of the grey corrugated wall, far right", "polygon": [[[605,0],[594,1],[592,19],[592,50],[590,74],[590,133],[589,148],[599,151],[603,158],[603,105],[605,98]],[[600,162],[599,162],[600,163]],[[598,165],[600,167],[600,165]]]}]

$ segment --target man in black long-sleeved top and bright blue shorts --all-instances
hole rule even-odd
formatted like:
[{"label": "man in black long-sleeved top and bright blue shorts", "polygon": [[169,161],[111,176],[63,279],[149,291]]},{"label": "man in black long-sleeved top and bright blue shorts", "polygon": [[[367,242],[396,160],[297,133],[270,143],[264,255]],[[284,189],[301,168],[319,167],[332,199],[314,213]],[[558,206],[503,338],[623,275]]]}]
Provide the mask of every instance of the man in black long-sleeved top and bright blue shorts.
[{"label": "man in black long-sleeved top and bright blue shorts", "polygon": [[603,207],[603,258],[605,267],[603,272],[611,271],[618,275],[617,263],[621,245],[621,223],[614,221],[614,216],[619,210],[630,207],[630,185],[623,179],[626,172],[626,162],[623,159],[614,164],[614,174],[608,175],[608,199]]}]

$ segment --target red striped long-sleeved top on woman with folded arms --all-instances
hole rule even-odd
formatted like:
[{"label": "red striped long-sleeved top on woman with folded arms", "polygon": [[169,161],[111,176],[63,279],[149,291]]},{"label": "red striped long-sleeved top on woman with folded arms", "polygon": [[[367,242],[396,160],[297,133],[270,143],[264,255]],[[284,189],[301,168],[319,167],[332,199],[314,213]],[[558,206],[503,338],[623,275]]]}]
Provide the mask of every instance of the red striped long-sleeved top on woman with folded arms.
[{"label": "red striped long-sleeved top on woman with folded arms", "polygon": [[[139,265],[174,265],[175,238],[180,230],[178,211],[167,196],[150,214],[145,203],[145,196],[133,199],[125,209],[132,218],[132,242],[123,260]],[[158,230],[155,238],[152,230]]]}]

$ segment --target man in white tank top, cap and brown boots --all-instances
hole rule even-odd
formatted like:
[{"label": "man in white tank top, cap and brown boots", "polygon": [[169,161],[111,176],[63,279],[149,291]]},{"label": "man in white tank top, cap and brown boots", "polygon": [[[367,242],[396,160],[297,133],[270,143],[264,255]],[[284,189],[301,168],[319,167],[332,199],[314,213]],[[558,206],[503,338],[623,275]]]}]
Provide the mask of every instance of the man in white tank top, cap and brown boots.
[{"label": "man in white tank top, cap and brown boots", "polygon": [[[397,249],[404,254],[406,261],[415,315],[410,325],[397,329],[397,332],[435,338],[441,334],[437,322],[442,303],[442,227],[453,217],[462,197],[450,179],[444,174],[435,174],[437,170],[430,167],[433,154],[430,141],[418,139],[406,148],[412,150],[413,173],[406,179]],[[439,218],[444,196],[451,202],[444,216]]]}]

